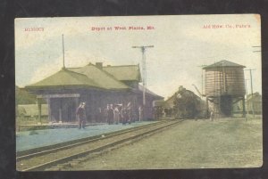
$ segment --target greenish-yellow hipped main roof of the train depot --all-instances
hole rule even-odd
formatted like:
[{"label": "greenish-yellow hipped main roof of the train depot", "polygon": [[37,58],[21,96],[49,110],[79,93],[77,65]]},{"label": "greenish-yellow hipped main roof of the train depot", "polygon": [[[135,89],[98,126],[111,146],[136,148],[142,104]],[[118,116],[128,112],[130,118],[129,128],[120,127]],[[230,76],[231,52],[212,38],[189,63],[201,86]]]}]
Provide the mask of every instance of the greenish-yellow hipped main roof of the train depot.
[{"label": "greenish-yellow hipped main roof of the train depot", "polygon": [[26,88],[46,88],[60,86],[83,86],[102,89],[130,89],[121,81],[140,81],[138,65],[108,66],[98,68],[89,63],[80,68],[63,68],[50,77],[38,81]]}]

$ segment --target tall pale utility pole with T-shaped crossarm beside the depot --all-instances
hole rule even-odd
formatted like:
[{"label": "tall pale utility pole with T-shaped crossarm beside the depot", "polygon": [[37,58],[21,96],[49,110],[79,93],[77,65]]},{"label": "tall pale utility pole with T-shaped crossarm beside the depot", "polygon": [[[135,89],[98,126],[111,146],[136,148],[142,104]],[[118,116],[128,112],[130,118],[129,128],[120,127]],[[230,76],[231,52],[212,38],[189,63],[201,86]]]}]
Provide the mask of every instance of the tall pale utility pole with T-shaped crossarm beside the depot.
[{"label": "tall pale utility pole with T-shaped crossarm beside the depot", "polygon": [[143,106],[146,106],[146,90],[147,90],[147,62],[146,62],[146,49],[153,48],[154,45],[147,45],[147,46],[132,46],[132,48],[140,48],[142,53],[142,72],[143,72]]}]

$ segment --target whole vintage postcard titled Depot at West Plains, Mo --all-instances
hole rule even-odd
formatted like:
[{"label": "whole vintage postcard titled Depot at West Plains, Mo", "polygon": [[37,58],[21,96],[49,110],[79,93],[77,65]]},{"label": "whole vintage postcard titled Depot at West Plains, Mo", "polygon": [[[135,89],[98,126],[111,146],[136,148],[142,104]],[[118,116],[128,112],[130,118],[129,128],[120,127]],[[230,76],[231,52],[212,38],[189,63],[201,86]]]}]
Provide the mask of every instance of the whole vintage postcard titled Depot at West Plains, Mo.
[{"label": "whole vintage postcard titled Depot at West Plains, Mo", "polygon": [[262,167],[261,17],[15,20],[16,168]]}]

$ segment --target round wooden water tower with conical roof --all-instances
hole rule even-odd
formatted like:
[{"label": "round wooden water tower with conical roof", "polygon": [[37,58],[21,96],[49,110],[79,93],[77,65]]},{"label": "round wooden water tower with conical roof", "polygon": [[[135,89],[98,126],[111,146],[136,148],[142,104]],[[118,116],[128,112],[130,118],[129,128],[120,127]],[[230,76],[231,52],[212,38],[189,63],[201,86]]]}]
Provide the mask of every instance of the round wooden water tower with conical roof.
[{"label": "round wooden water tower with conical roof", "polygon": [[207,109],[218,117],[231,117],[234,103],[243,102],[245,117],[245,66],[230,61],[218,61],[205,69]]}]

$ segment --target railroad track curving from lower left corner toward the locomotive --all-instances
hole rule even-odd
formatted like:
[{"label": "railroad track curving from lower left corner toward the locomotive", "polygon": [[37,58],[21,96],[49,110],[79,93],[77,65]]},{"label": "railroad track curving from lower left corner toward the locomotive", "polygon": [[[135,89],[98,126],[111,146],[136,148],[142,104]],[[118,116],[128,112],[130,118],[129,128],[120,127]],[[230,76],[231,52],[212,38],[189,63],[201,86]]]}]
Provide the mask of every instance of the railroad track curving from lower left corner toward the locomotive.
[{"label": "railroad track curving from lower left corner toward the locomotive", "polygon": [[22,152],[18,156],[17,170],[19,171],[44,171],[61,170],[66,166],[79,163],[88,155],[100,154],[109,149],[114,149],[124,142],[138,140],[148,134],[154,134],[167,127],[174,126],[182,120],[165,120],[146,126],[138,126],[120,132],[102,134],[83,140],[64,142],[54,149],[40,148],[33,153]]}]

